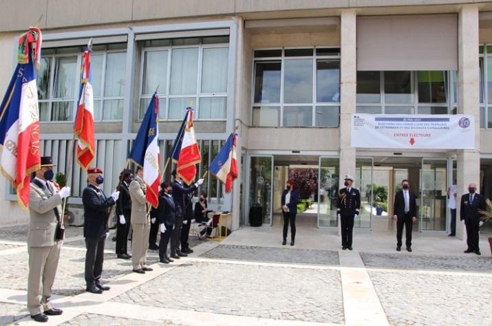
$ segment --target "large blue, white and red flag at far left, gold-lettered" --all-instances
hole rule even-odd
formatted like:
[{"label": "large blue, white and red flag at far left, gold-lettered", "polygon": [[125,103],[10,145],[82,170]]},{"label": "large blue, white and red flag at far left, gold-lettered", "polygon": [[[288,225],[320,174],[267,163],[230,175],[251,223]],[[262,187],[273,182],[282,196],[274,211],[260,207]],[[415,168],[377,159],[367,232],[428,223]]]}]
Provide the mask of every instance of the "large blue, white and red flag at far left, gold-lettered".
[{"label": "large blue, white and red flag at far left, gold-lettered", "polygon": [[41,30],[30,28],[19,39],[18,65],[0,106],[0,170],[29,204],[30,173],[41,168],[39,104],[35,62],[41,56]]}]

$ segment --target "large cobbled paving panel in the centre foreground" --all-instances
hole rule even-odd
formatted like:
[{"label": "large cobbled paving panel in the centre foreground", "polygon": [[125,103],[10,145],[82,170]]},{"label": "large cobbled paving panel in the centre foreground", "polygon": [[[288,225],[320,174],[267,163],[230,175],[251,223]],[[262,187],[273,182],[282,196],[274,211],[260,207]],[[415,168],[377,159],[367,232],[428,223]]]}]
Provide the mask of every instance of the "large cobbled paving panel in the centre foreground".
[{"label": "large cobbled paving panel in the centre foreground", "polygon": [[282,320],[344,322],[341,277],[336,270],[186,263],[112,301]]}]

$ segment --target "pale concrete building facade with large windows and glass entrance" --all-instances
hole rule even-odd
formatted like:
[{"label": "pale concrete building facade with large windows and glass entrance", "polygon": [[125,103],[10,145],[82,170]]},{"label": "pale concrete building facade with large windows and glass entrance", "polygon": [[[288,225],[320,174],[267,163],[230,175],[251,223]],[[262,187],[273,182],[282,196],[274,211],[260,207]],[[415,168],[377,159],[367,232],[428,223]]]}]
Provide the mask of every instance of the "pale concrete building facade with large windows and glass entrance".
[{"label": "pale concrete building facade with large windows and glass entrance", "polygon": [[[423,232],[449,230],[451,184],[460,194],[475,182],[492,197],[489,1],[10,2],[0,14],[0,86],[6,89],[14,69],[18,34],[39,25],[43,153],[54,157],[57,171],[73,164],[67,177],[74,210],[86,175],[67,151],[81,53],[91,38],[96,165],[105,171],[107,193],[158,89],[161,169],[188,106],[195,109],[200,176],[228,135],[239,133],[233,191],[223,193],[211,175],[202,186],[212,208],[232,211],[233,230],[248,224],[253,205],[263,208],[264,224],[272,223],[295,167],[317,171],[319,227],[336,226],[334,199],[345,174],[361,188],[365,210],[357,226],[372,230],[393,227],[375,208],[391,213],[403,179],[418,193]],[[354,149],[353,113],[469,114],[475,149]],[[381,188],[384,195],[377,194]],[[0,224],[27,221],[14,200],[2,186],[0,205],[8,213]]]}]

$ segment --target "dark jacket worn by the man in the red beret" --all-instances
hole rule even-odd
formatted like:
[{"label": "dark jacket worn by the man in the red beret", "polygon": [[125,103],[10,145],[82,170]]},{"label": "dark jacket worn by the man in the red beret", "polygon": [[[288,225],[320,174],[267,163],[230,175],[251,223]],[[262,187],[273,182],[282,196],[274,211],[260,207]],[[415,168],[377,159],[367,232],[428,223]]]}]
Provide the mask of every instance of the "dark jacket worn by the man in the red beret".
[{"label": "dark jacket worn by the man in the red beret", "polygon": [[105,237],[107,232],[106,219],[109,208],[115,204],[113,197],[107,198],[102,189],[89,184],[82,193],[84,204],[84,237]]}]

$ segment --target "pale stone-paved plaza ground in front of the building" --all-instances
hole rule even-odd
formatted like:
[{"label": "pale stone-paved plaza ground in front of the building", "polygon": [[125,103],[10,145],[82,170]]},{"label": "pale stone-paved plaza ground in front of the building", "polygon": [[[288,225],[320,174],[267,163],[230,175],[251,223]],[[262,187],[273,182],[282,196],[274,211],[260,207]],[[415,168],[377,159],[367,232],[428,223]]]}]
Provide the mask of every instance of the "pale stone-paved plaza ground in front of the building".
[{"label": "pale stone-paved plaza ground in front of the building", "polygon": [[[0,324],[34,325],[25,307],[26,226],[0,228]],[[85,292],[82,228],[68,227],[54,283],[61,316],[45,325],[492,325],[492,259],[463,254],[462,241],[416,235],[414,252],[394,251],[391,232],[359,232],[341,250],[336,230],[241,228],[222,242],[190,237],[189,257],[131,272],[107,238],[103,281]],[[131,243],[129,243],[130,245]],[[434,248],[434,250],[432,249]],[[419,250],[421,249],[421,250]]]}]

